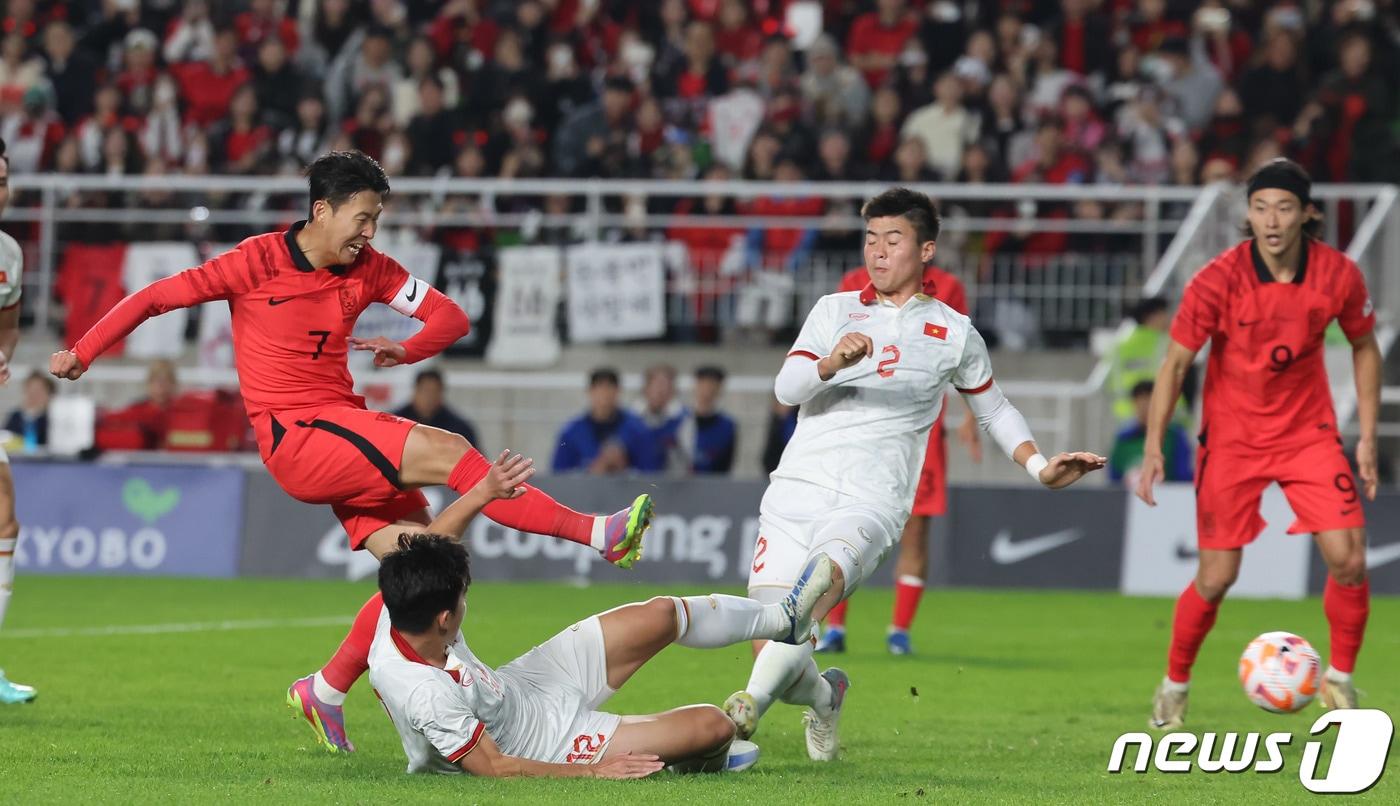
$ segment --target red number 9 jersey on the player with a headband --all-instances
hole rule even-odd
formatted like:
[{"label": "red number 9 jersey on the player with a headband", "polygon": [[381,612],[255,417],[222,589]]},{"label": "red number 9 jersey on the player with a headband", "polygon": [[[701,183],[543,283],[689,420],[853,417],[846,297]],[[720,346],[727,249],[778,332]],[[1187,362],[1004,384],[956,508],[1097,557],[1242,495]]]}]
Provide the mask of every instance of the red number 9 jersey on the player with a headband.
[{"label": "red number 9 jersey on the player with a headband", "polygon": [[1303,238],[1291,283],[1274,280],[1253,239],[1201,269],[1172,320],[1172,339],[1183,347],[1211,341],[1201,444],[1260,455],[1336,441],[1323,361],[1333,319],[1352,340],[1376,325],[1361,270],[1320,241]]}]

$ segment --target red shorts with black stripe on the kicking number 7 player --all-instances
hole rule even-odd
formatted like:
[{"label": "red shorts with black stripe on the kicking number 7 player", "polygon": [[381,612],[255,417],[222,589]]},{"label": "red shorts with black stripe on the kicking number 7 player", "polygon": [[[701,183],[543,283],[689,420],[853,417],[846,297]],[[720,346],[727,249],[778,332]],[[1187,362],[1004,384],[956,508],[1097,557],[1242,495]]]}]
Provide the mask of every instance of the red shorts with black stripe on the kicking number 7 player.
[{"label": "red shorts with black stripe on the kicking number 7 player", "polygon": [[374,532],[428,507],[421,491],[399,486],[414,425],[353,406],[283,411],[273,416],[267,470],[293,498],[330,504],[358,550]]}]

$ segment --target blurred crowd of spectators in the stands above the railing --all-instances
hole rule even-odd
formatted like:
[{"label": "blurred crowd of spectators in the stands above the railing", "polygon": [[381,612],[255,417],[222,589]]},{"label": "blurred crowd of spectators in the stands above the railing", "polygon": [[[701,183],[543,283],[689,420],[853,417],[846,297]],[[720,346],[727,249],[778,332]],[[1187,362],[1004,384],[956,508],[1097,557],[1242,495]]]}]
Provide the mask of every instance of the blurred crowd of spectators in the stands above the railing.
[{"label": "blurred crowd of spectators in the stands above the railing", "polygon": [[[794,6],[820,10],[805,46]],[[279,174],[333,147],[399,176],[1400,171],[1400,27],[1372,0],[10,0],[0,31],[15,172]]]}]

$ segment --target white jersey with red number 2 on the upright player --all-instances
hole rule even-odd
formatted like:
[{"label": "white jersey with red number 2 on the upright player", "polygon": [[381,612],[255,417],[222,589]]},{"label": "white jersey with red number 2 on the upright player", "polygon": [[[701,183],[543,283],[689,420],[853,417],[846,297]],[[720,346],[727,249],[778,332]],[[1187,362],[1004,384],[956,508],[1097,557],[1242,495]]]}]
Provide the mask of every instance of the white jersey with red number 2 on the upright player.
[{"label": "white jersey with red number 2 on the upright player", "polygon": [[875,355],[837,372],[802,404],[773,477],[907,516],[946,388],[991,385],[987,344],[970,319],[932,297],[917,294],[900,308],[867,288],[822,297],[788,355],[820,360],[848,332],[869,336]]}]

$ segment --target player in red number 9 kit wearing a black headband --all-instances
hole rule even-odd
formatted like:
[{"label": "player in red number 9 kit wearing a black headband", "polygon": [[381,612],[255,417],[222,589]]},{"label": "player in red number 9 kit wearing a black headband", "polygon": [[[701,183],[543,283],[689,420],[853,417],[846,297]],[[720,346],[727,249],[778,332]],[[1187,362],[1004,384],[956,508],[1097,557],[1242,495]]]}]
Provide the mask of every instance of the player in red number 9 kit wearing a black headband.
[{"label": "player in red number 9 kit wearing a black headband", "polygon": [[[1264,528],[1259,501],[1273,481],[1296,516],[1288,532],[1310,532],[1327,563],[1323,610],[1331,658],[1320,683],[1322,702],[1357,705],[1351,673],[1371,610],[1361,498],[1376,495],[1380,347],[1361,270],[1313,236],[1310,195],[1308,174],[1288,160],[1274,160],[1250,176],[1252,238],[1222,252],[1187,284],[1152,389],[1137,488],[1148,505],[1155,505],[1162,434],[1182,378],[1211,341],[1196,460],[1200,564],[1176,602],[1166,679],[1156,688],[1149,722],[1159,730],[1184,722],[1191,665],[1239,574],[1240,550]],[[1333,319],[1352,348],[1361,488],[1343,455],[1323,364],[1323,333]]]}]

